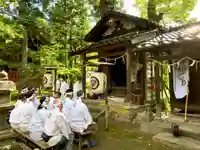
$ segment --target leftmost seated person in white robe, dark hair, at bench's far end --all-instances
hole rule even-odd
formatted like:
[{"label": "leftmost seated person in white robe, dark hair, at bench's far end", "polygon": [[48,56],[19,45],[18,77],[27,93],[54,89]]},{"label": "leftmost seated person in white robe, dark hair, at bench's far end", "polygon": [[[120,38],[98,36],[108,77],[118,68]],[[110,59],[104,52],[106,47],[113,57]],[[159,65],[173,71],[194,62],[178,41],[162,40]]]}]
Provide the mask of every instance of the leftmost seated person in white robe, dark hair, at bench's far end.
[{"label": "leftmost seated person in white robe, dark hair, at bench's far end", "polygon": [[20,92],[19,100],[17,100],[15,104],[15,108],[10,113],[9,123],[12,128],[19,128],[19,123],[21,120],[21,112],[23,110],[23,106],[26,101],[27,92],[28,92],[28,88],[24,88]]}]

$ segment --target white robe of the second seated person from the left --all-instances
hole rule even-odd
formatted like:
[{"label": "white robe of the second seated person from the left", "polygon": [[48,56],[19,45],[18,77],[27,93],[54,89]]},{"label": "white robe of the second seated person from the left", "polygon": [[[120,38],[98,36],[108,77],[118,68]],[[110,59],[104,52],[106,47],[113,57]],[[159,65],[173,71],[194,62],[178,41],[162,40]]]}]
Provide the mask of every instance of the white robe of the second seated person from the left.
[{"label": "white robe of the second seated person from the left", "polygon": [[24,103],[23,109],[21,111],[21,120],[19,124],[20,130],[22,132],[28,131],[29,122],[31,121],[31,118],[33,114],[35,113],[35,111],[36,111],[36,108],[32,101],[27,101],[26,103]]}]

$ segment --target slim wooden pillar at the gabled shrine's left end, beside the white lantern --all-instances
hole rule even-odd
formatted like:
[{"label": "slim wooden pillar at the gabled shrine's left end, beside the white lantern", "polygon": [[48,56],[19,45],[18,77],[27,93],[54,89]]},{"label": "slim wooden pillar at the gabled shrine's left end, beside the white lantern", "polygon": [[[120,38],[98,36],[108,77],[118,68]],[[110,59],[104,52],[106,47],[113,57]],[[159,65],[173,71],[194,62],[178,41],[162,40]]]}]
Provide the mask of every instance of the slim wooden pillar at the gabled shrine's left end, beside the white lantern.
[{"label": "slim wooden pillar at the gabled shrine's left end, beside the white lantern", "polygon": [[84,96],[86,97],[86,54],[81,54],[81,71],[82,71],[82,86]]}]

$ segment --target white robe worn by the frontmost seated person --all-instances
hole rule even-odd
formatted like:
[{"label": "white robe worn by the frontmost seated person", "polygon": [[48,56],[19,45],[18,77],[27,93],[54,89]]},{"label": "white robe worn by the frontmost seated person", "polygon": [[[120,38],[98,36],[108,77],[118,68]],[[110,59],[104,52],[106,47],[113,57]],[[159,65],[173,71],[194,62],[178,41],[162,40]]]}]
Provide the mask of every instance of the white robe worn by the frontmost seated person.
[{"label": "white robe worn by the frontmost seated person", "polygon": [[58,109],[53,109],[45,120],[44,132],[52,138],[48,141],[50,146],[56,145],[65,136],[69,140],[69,135],[72,134],[69,124],[67,123],[63,113]]}]

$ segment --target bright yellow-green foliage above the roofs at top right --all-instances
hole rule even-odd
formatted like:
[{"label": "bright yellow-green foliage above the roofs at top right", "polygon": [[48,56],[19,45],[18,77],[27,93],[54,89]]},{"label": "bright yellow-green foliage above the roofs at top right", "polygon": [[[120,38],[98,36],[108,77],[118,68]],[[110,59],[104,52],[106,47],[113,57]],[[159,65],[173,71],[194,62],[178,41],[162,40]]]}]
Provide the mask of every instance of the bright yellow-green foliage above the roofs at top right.
[{"label": "bright yellow-green foliage above the roofs at top right", "polygon": [[[149,2],[151,2],[150,5]],[[136,0],[136,7],[144,18],[148,18],[147,8],[149,7],[150,11],[156,11],[157,14],[163,13],[165,22],[171,20],[185,23],[196,3],[197,0]]]}]

